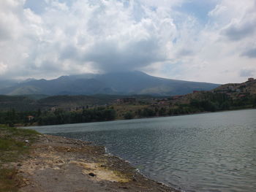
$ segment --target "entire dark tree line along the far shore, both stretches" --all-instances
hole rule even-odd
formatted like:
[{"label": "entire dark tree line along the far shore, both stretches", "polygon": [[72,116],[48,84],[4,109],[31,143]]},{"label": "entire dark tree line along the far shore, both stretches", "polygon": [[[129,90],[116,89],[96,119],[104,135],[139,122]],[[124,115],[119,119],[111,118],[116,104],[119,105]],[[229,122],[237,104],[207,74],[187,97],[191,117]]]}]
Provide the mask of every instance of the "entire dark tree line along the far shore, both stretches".
[{"label": "entire dark tree line along the far shore, both stretches", "polygon": [[[242,108],[256,107],[256,96],[245,95],[238,99],[232,99],[225,93],[206,92],[200,94],[197,99],[191,99],[187,104],[175,104],[174,106],[161,107],[149,106],[136,111],[127,111],[119,115],[123,119],[150,118],[156,116],[192,114],[196,112],[215,112],[220,110],[234,110]],[[56,109],[54,111],[31,111],[17,112],[10,110],[0,112],[0,124],[14,126],[22,124],[37,123],[39,126],[58,125],[67,123],[89,123],[106,120],[116,120],[118,111],[114,107],[94,107],[83,110],[64,111]]]}]

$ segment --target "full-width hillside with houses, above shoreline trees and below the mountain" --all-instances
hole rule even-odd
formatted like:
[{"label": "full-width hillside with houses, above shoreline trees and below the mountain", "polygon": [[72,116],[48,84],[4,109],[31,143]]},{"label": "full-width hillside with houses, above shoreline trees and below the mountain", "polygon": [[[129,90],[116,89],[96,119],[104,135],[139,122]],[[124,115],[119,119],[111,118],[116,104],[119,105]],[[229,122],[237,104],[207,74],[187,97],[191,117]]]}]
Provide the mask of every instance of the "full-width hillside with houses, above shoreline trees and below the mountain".
[{"label": "full-width hillside with houses, above shoreline trees and below the mountain", "polygon": [[[69,77],[74,78],[74,77]],[[117,86],[117,85],[116,85]],[[128,85],[127,85],[128,87]],[[121,104],[121,107],[117,107],[129,110],[131,105],[135,105],[132,108],[140,108],[141,104],[146,106],[160,106],[165,103],[164,106],[175,106],[176,104],[190,104],[192,100],[197,101],[213,101],[215,102],[219,98],[225,100],[225,103],[230,106],[236,105],[236,102],[240,105],[246,104],[249,99],[253,99],[256,95],[256,80],[247,81],[243,83],[229,83],[220,85],[218,88],[214,88],[211,91],[194,91],[194,93],[188,93],[185,95],[177,96],[146,96],[146,95],[108,95],[97,94],[91,96],[85,95],[60,95],[60,96],[46,96],[46,95],[23,95],[23,96],[0,96],[0,111],[17,110],[17,111],[37,111],[50,110],[54,108],[61,108],[63,110],[77,110],[85,107],[97,107],[112,104]],[[120,102],[125,98],[132,98],[128,102]],[[214,100],[215,98],[215,100]],[[118,102],[118,100],[120,100]],[[127,107],[128,106],[128,107]],[[125,111],[125,110],[124,110]]]}]

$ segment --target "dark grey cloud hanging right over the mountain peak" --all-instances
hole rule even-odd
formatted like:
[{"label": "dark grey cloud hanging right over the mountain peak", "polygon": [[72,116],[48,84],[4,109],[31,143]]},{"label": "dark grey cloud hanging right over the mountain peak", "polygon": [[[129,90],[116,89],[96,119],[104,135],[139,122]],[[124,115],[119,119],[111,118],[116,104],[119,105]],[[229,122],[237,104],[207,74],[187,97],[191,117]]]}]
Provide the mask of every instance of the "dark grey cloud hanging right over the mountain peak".
[{"label": "dark grey cloud hanging right over the mountain peak", "polygon": [[140,69],[148,64],[164,61],[165,55],[157,39],[141,39],[118,45],[118,42],[99,42],[85,55],[87,61],[94,62],[104,72]]}]

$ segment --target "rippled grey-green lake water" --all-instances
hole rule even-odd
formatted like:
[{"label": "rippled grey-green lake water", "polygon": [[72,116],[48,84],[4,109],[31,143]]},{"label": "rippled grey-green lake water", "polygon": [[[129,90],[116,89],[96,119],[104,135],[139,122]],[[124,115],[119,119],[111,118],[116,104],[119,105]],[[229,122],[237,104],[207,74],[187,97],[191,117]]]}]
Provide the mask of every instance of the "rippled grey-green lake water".
[{"label": "rippled grey-green lake water", "polygon": [[34,129],[105,145],[184,191],[256,191],[256,110]]}]

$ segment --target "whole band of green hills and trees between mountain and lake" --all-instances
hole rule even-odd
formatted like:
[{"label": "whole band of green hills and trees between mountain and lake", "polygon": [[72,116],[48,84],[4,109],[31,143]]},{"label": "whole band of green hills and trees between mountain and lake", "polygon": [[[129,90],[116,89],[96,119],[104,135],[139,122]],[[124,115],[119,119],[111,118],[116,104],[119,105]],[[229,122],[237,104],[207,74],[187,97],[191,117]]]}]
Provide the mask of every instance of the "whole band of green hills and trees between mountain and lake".
[{"label": "whole band of green hills and trees between mountain and lake", "polygon": [[0,96],[0,123],[8,126],[57,125],[256,107],[255,84],[246,83],[173,97]]}]

